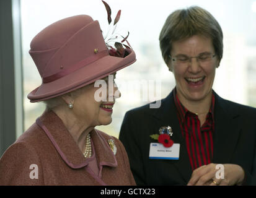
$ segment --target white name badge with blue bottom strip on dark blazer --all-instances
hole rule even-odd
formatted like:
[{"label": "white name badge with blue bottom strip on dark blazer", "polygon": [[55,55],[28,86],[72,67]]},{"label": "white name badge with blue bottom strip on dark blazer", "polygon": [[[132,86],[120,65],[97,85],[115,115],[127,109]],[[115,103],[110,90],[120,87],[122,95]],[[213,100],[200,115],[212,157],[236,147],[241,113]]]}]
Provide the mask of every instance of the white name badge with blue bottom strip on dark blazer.
[{"label": "white name badge with blue bottom strip on dark blazer", "polygon": [[167,148],[160,143],[151,143],[149,149],[149,159],[152,160],[179,160],[180,144],[174,144]]}]

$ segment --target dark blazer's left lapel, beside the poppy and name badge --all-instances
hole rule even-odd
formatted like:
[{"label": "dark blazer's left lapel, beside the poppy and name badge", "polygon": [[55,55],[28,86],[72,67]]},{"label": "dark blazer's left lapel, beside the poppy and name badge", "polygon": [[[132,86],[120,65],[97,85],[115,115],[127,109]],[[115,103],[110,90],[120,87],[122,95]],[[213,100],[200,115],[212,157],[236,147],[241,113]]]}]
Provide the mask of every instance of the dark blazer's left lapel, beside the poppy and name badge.
[{"label": "dark blazer's left lapel, beside the poppy and name badge", "polygon": [[180,144],[180,157],[179,160],[177,160],[177,163],[175,163],[175,166],[187,184],[192,174],[192,168],[188,159],[185,140],[180,130],[173,92],[171,92],[167,98],[162,100],[161,107],[156,111],[154,116],[158,119],[155,129],[156,131],[162,126],[172,127],[173,135],[171,139],[174,140],[174,144]]}]

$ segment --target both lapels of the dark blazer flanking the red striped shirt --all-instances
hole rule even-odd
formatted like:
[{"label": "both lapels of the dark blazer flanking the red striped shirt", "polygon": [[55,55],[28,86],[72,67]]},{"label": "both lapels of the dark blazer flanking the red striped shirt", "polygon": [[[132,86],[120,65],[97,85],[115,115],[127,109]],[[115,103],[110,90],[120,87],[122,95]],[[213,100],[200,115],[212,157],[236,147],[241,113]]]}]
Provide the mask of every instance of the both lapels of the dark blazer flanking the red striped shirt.
[{"label": "both lapels of the dark blazer flanking the red striped shirt", "polygon": [[[232,153],[236,149],[237,140],[241,131],[239,114],[232,110],[231,102],[219,97],[214,91],[214,132],[213,132],[213,163],[229,163]],[[174,165],[187,183],[192,175],[192,168],[188,159],[185,140],[177,118],[177,108],[172,91],[161,102],[161,107],[153,113],[157,119],[156,131],[162,126],[172,127],[172,140],[180,144],[180,158]]]}]

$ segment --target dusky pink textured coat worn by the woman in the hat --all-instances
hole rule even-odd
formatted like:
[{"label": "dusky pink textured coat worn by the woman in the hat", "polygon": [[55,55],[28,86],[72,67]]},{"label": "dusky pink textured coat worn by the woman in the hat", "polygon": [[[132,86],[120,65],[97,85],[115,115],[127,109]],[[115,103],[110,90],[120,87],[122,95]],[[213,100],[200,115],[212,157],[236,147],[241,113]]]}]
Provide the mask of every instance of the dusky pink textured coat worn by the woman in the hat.
[{"label": "dusky pink textured coat worn by the woman in the hat", "polygon": [[[96,129],[90,132],[99,165],[95,175],[53,111],[43,113],[37,123],[2,155],[0,185],[136,185],[123,144],[115,137]],[[109,139],[115,142],[116,155]]]}]

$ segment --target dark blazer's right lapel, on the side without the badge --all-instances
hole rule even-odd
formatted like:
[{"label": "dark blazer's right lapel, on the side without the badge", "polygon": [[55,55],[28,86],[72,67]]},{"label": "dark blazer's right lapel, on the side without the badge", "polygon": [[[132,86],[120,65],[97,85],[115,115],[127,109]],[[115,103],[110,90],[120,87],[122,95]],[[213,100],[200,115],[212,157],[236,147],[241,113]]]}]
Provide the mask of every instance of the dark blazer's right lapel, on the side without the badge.
[{"label": "dark blazer's right lapel, on the side without the badge", "polygon": [[214,92],[216,103],[214,107],[213,163],[229,163],[236,149],[241,126],[237,118],[239,114],[232,113],[226,100]]}]

